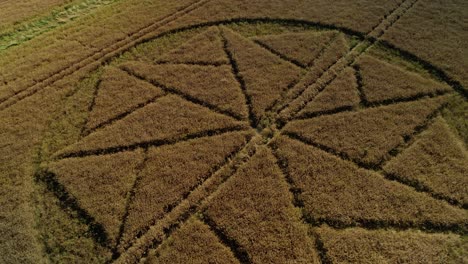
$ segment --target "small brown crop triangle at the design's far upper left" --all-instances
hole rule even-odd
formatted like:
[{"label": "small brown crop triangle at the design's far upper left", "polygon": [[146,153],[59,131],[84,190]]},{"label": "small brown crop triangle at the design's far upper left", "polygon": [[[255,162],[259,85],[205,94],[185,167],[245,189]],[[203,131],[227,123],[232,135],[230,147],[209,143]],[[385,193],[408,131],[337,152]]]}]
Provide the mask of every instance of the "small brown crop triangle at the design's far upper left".
[{"label": "small brown crop triangle at the design's far upper left", "polygon": [[164,92],[114,67],[107,68],[101,77],[95,105],[87,123],[88,129],[112,120]]}]

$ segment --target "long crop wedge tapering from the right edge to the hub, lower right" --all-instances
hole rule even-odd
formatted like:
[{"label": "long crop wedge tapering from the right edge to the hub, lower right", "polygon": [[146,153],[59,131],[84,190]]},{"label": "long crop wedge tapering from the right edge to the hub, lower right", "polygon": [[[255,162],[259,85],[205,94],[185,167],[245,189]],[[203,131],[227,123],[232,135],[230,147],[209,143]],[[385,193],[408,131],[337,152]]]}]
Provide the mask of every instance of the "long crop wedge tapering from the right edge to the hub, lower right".
[{"label": "long crop wedge tapering from the right edge to the hub, lower right", "polygon": [[280,137],[274,144],[312,221],[467,227],[468,214],[444,201],[297,140]]}]

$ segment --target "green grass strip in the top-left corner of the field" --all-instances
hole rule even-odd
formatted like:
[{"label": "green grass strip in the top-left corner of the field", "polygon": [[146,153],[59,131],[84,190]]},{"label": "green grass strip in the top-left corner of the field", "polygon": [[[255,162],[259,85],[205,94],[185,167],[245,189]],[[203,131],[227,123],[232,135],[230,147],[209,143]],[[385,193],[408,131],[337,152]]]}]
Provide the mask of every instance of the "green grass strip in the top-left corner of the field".
[{"label": "green grass strip in the top-left corner of the field", "polygon": [[65,5],[60,9],[52,11],[45,17],[25,22],[13,30],[0,33],[0,51],[18,46],[45,32],[89,14],[98,7],[110,5],[118,1],[120,0],[85,0]]}]

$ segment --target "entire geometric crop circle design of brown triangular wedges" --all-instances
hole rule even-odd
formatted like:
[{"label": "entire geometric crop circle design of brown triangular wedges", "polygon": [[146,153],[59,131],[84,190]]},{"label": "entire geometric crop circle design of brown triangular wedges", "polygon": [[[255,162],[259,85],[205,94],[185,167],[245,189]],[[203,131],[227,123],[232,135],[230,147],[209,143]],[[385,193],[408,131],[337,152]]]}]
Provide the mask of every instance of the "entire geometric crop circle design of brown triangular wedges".
[{"label": "entire geometric crop circle design of brown triangular wedges", "polygon": [[340,67],[337,30],[198,30],[104,67],[82,137],[47,164],[113,260],[411,262],[415,240],[453,257],[468,155],[448,84],[376,52]]}]

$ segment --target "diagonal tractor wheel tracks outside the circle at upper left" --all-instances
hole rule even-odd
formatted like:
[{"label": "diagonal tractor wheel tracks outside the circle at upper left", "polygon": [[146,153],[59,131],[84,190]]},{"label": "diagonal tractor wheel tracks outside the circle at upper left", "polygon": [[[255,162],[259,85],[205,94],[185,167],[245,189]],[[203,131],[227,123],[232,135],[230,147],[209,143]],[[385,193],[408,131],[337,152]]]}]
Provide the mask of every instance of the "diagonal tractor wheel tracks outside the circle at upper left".
[{"label": "diagonal tractor wheel tracks outside the circle at upper left", "polygon": [[153,31],[181,18],[184,15],[189,14],[190,12],[205,5],[209,1],[210,0],[198,0],[196,2],[192,2],[191,4],[179,9],[175,13],[164,16],[156,22],[153,22],[147,26],[140,28],[138,31],[131,33],[125,39],[117,41],[116,43],[111,44],[110,46],[102,48],[101,50],[96,51],[90,54],[89,56],[78,60],[75,63],[72,63],[72,65],[66,66],[65,68],[56,71],[52,75],[37,81],[37,83],[33,84],[32,86],[28,86],[26,88],[21,89],[20,91],[15,92],[12,96],[0,100],[0,111],[9,108],[12,105],[15,105],[16,103],[24,100],[25,98],[34,95],[43,88],[52,85],[55,82],[69,75],[72,75],[74,72],[82,68],[96,63],[98,64],[97,66],[99,66],[99,64],[102,64],[103,62],[112,59],[116,54],[119,54],[120,52],[131,48],[135,43],[144,40],[148,37],[147,35],[151,35]]}]

